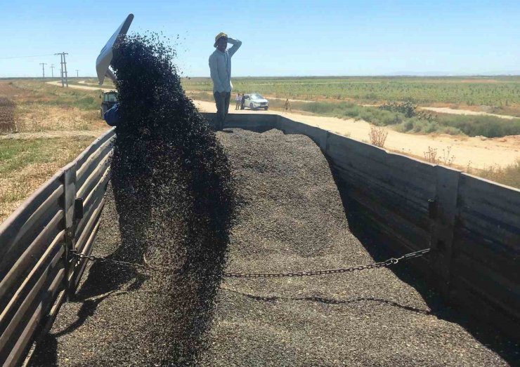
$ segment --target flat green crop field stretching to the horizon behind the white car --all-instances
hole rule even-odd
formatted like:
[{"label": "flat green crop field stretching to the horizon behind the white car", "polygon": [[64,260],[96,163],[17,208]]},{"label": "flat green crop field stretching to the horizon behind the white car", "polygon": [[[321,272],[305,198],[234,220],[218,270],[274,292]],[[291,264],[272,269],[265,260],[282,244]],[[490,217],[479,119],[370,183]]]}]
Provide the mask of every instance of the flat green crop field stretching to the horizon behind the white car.
[{"label": "flat green crop field stretching to the horizon behind the white car", "polygon": [[[183,86],[187,91],[212,91],[213,84],[209,78],[186,78]],[[233,91],[308,100],[520,107],[520,76],[233,78]]]}]

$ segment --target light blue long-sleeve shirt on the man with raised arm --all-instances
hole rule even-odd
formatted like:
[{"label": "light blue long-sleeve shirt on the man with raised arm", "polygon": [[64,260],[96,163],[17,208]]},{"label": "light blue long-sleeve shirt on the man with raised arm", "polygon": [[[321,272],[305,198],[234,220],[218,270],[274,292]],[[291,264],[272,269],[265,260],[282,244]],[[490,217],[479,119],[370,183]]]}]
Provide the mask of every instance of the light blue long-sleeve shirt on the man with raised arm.
[{"label": "light blue long-sleeve shirt on the man with raised arm", "polygon": [[230,92],[233,88],[231,83],[231,56],[242,46],[238,39],[228,38],[228,43],[233,47],[222,52],[218,48],[209,56],[209,74],[213,80],[213,93]]}]

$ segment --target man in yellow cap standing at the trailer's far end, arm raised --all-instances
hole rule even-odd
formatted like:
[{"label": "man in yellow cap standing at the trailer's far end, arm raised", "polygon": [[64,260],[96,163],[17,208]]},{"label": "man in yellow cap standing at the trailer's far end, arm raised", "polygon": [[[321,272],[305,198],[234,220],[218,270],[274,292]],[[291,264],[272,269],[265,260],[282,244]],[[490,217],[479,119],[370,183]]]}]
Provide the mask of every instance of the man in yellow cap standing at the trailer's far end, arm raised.
[{"label": "man in yellow cap standing at the trailer's far end, arm raised", "polygon": [[[233,45],[229,50],[228,42]],[[216,104],[216,130],[221,130],[226,123],[231,97],[231,57],[242,45],[237,39],[228,38],[224,32],[215,37],[213,47],[216,50],[209,56],[209,73],[213,80],[213,95]]]}]

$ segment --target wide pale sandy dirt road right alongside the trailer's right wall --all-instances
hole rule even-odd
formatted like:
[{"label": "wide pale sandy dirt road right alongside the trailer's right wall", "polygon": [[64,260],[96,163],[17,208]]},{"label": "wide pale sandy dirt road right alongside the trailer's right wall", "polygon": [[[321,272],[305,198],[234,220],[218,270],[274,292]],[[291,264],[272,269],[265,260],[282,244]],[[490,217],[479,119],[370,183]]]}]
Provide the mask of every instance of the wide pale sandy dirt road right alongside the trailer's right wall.
[{"label": "wide pale sandy dirt road right alongside the trailer's right wall", "polygon": [[[195,105],[202,112],[216,112],[213,102],[195,101]],[[250,111],[249,109],[235,110],[230,113],[265,114],[269,111]],[[275,112],[278,113],[278,112]],[[337,119],[334,117],[306,116],[302,114],[283,114],[287,118],[311,126],[318,126],[334,133],[347,135],[359,141],[369,141],[370,124],[353,119]],[[520,135],[505,138],[468,138],[467,136],[453,135],[413,135],[388,131],[385,148],[394,152],[411,154],[424,159],[424,152],[429,147],[437,149],[437,156],[443,156],[450,150],[450,157],[454,156],[453,163],[462,168],[488,168],[489,166],[507,166],[520,159]]]}]

